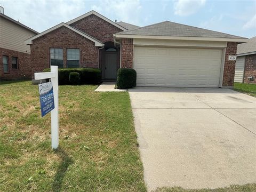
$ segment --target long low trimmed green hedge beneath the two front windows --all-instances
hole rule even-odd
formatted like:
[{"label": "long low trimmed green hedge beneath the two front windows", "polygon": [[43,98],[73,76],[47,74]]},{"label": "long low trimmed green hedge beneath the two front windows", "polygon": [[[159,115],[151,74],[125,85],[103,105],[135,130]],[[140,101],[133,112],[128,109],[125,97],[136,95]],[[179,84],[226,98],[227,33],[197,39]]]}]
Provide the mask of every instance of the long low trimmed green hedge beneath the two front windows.
[{"label": "long low trimmed green hedge beneath the two front windows", "polygon": [[[43,72],[50,72],[51,69],[44,69]],[[59,84],[68,85],[69,74],[77,72],[80,76],[81,84],[98,84],[101,82],[101,70],[93,68],[60,68],[59,69]]]}]

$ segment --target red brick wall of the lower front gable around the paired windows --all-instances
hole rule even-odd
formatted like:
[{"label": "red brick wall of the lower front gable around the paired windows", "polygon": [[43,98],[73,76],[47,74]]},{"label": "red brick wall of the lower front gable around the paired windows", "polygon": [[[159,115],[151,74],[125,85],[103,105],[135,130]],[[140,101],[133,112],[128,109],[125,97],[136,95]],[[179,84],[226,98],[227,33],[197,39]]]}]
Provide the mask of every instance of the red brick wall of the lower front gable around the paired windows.
[{"label": "red brick wall of the lower front gable around the paired windows", "polygon": [[67,48],[80,50],[80,66],[99,68],[98,47],[94,42],[66,27],[60,27],[50,33],[36,38],[31,44],[32,73],[50,67],[50,48],[63,49],[63,67],[67,67]]}]

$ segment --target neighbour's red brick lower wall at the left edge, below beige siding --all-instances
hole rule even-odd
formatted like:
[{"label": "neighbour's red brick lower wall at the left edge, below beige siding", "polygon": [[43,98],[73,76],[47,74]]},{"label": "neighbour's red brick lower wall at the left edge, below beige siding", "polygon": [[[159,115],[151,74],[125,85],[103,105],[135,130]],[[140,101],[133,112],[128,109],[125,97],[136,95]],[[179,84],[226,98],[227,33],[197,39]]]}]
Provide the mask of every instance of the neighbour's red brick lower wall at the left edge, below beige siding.
[{"label": "neighbour's red brick lower wall at the left edge, below beige siding", "polygon": [[[9,57],[9,72],[4,73],[3,55]],[[18,58],[18,69],[12,69],[12,57]],[[31,78],[30,54],[0,48],[0,78],[25,79]]]}]

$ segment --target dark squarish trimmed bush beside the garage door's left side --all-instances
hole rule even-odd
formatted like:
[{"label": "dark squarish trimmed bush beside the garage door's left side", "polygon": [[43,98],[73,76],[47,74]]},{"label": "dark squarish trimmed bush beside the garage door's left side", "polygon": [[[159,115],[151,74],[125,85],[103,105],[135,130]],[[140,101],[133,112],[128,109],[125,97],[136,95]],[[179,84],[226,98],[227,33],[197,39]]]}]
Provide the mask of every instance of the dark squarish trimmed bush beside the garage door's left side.
[{"label": "dark squarish trimmed bush beside the garage door's left side", "polygon": [[116,88],[128,89],[136,86],[137,73],[134,69],[121,68],[117,71]]}]

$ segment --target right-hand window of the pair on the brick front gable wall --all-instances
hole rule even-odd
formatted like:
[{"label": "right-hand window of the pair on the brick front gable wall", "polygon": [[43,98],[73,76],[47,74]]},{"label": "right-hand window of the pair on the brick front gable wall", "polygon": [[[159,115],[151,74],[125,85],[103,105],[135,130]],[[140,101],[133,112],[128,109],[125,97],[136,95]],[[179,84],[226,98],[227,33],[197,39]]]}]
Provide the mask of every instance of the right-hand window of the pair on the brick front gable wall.
[{"label": "right-hand window of the pair on the brick front gable wall", "polygon": [[67,65],[68,68],[79,68],[80,51],[79,49],[67,49]]}]

